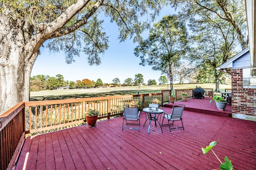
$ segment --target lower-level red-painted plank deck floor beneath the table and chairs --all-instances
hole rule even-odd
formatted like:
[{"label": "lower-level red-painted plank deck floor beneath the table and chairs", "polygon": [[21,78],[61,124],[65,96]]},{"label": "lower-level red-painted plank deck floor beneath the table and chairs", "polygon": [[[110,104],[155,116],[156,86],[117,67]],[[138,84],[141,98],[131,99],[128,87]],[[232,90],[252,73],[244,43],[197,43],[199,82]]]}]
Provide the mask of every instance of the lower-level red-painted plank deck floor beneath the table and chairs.
[{"label": "lower-level red-painted plank deck floor beneath the table and chairs", "polygon": [[[170,108],[167,108],[167,110]],[[184,111],[184,129],[151,126],[122,131],[122,117],[28,137],[16,170],[211,170],[220,162],[201,147],[217,141],[219,158],[236,170],[256,169],[256,122]],[[175,122],[178,125],[178,122]],[[174,123],[174,125],[175,125]]]}]

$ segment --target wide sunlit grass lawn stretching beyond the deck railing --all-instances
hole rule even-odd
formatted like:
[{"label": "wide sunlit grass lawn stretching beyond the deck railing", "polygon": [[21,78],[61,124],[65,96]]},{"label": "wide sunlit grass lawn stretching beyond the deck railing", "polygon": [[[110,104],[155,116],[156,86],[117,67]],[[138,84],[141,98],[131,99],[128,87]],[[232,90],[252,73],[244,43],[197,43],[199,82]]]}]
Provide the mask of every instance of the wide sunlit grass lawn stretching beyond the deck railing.
[{"label": "wide sunlit grass lawn stretching beyond the deck railing", "polygon": [[[215,84],[174,84],[174,89],[188,89],[188,88],[213,88]],[[220,91],[224,92],[225,88],[231,88],[231,85],[220,84]],[[68,90],[42,90],[39,92],[30,92],[30,101],[41,100],[59,100],[59,99],[74,99],[74,98],[90,98],[100,96],[114,96],[114,95],[129,95],[129,94],[148,94],[160,93],[161,90],[170,89],[166,85],[142,86],[138,90],[137,86],[126,87],[111,87],[111,88],[88,88],[88,89],[68,89]]]}]

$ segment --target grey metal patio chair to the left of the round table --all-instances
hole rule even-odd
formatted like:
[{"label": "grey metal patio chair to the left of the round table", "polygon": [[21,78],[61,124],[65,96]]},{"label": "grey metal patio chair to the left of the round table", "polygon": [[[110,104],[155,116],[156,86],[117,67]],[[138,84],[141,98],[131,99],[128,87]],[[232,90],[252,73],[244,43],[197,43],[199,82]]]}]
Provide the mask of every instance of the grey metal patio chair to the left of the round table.
[{"label": "grey metal patio chair to the left of the round table", "polygon": [[[138,125],[138,128],[124,127],[124,120],[126,121],[126,125]],[[131,121],[138,121],[138,123],[130,123]],[[138,129],[140,131],[140,111],[138,111],[137,105],[124,105],[123,129]]]}]

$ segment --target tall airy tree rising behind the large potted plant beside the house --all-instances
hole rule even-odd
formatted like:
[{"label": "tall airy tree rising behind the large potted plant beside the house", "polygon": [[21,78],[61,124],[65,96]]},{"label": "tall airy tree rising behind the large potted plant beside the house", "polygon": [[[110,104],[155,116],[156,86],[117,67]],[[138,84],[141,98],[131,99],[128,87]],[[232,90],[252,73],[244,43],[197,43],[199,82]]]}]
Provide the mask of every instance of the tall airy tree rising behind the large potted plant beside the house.
[{"label": "tall airy tree rising behind the large potted plant beside the house", "polygon": [[214,76],[215,92],[220,92],[219,80],[222,72],[216,68],[224,64],[235,55],[236,30],[231,23],[221,20],[218,16],[212,16],[208,11],[198,13],[196,18],[190,19],[191,53],[190,61],[203,66],[202,71],[208,69]]}]

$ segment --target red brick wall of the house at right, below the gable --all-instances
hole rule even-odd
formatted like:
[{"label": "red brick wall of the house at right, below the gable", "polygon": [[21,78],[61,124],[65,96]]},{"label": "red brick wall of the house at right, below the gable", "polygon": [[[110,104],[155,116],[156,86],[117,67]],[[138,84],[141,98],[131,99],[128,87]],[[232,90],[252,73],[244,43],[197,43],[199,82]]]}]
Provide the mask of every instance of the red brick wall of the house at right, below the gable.
[{"label": "red brick wall of the house at right, below the gable", "polygon": [[242,69],[231,71],[232,113],[256,116],[256,88],[243,88]]}]

